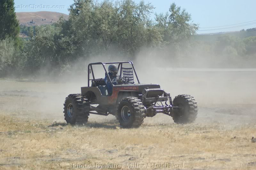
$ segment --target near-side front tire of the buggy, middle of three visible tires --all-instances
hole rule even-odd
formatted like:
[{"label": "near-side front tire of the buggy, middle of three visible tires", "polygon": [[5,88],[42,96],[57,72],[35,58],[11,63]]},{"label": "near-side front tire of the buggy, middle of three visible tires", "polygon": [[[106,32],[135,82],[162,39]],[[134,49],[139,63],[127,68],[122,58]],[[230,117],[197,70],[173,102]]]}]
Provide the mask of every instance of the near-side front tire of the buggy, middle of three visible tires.
[{"label": "near-side front tire of the buggy, middle of three visible tires", "polygon": [[117,119],[123,128],[137,128],[144,120],[144,106],[137,97],[123,98],[117,107]]}]

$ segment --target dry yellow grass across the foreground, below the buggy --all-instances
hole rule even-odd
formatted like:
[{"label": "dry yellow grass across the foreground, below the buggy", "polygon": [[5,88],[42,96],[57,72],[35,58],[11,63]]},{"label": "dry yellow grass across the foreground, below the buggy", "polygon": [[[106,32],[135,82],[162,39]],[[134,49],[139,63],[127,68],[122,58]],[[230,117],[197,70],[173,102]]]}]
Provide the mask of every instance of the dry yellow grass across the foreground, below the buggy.
[{"label": "dry yellow grass across the foreground, below the buggy", "polygon": [[68,169],[72,163],[133,162],[145,166],[183,163],[185,169],[256,168],[256,144],[250,140],[255,135],[254,125],[231,130],[214,124],[120,129],[116,122],[92,122],[72,127],[3,113],[0,120],[1,169]]}]

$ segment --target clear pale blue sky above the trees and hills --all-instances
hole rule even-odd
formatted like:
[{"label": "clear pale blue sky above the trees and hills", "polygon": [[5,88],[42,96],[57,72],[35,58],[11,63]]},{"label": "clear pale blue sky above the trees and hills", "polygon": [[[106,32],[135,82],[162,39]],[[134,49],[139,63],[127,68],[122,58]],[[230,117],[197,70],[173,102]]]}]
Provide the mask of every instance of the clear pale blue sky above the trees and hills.
[{"label": "clear pale blue sky above the trees and hills", "polygon": [[[98,0],[100,2],[101,0]],[[135,2],[139,2],[140,0],[134,0]],[[73,0],[14,0],[16,5],[16,12],[36,12],[36,11],[54,11],[68,14],[69,5],[73,3]],[[224,32],[224,31],[239,31],[241,29],[247,29],[256,27],[256,15],[255,15],[255,7],[256,0],[215,0],[215,1],[206,1],[206,0],[145,0],[145,3],[151,3],[154,5],[156,13],[167,12],[169,6],[172,2],[175,2],[177,5],[181,6],[181,8],[187,9],[189,13],[192,14],[192,20],[194,23],[200,24],[200,27],[215,27],[215,28],[200,28],[199,30],[207,30],[207,31],[199,31],[198,34],[203,33],[214,33],[214,32]],[[25,5],[28,5],[27,8]],[[63,9],[40,9],[35,6],[41,5],[57,5],[55,8],[63,8]],[[59,5],[63,5],[60,7]],[[22,7],[23,6],[23,7]],[[31,8],[32,7],[32,8]],[[19,8],[19,9],[18,9]],[[152,14],[152,18],[154,15]],[[254,21],[254,22],[248,22]],[[248,22],[248,23],[244,23]],[[244,23],[244,24],[239,24]],[[249,25],[251,24],[252,25]],[[237,24],[237,25],[233,25]],[[219,27],[233,25],[227,27]],[[236,27],[244,25],[242,27]],[[227,29],[219,29],[219,30],[210,30],[216,28],[227,28]]]}]

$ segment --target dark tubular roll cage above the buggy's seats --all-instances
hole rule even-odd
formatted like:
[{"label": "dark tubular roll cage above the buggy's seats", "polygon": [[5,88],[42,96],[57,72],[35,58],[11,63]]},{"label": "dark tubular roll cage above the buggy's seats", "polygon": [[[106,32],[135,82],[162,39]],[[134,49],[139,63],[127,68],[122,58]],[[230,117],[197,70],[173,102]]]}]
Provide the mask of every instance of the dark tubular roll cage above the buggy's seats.
[{"label": "dark tubular roll cage above the buggy's seats", "polygon": [[[125,64],[125,63],[130,63],[132,65],[132,68],[124,68],[123,64]],[[136,79],[137,79],[138,83],[140,84],[139,78],[137,76],[137,73],[135,71],[135,68],[133,66],[132,61],[105,62],[105,63],[99,62],[99,63],[91,63],[91,64],[88,65],[88,87],[90,87],[90,81],[92,81],[92,80],[95,81],[92,65],[102,65],[104,70],[105,70],[105,73],[106,73],[106,75],[108,77],[108,81],[110,81],[110,77],[108,75],[108,71],[107,71],[107,69],[105,67],[106,64],[118,64],[117,69],[118,69],[118,72],[120,72],[120,76],[122,77],[122,73],[123,73],[124,75],[127,75],[127,77],[129,78],[130,81],[133,81],[133,79],[134,79],[133,78],[133,71],[134,71]],[[90,73],[92,73],[92,79],[90,79]],[[110,82],[111,82],[111,86],[113,87],[112,81],[110,81]],[[133,83],[134,83],[134,81],[133,81]]]}]

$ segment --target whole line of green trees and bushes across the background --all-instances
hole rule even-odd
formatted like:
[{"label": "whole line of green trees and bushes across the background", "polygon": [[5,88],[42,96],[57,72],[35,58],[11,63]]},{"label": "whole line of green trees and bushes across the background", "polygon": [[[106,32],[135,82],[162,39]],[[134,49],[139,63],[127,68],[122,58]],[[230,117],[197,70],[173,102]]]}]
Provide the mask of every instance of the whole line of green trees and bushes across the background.
[{"label": "whole line of green trees and bushes across the background", "polygon": [[[101,3],[74,0],[68,20],[60,17],[53,25],[21,27],[21,30],[14,8],[7,9],[6,4],[10,6],[14,2],[3,0],[0,7],[3,16],[0,19],[2,77],[36,74],[41,68],[61,72],[72,69],[72,63],[81,58],[95,56],[135,59],[142,48],[165,50],[166,59],[175,59],[188,53],[183,49],[198,46],[189,41],[191,35],[196,34],[198,24],[192,22],[186,9],[175,3],[170,4],[168,12],[154,14],[154,6],[144,1],[136,4],[132,0],[104,0]],[[21,41],[19,32],[29,35],[28,40]],[[236,45],[231,41],[237,40],[229,39],[227,51],[235,49],[237,55],[245,55],[243,45]],[[246,42],[253,44],[254,41]]]}]

